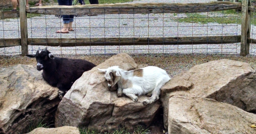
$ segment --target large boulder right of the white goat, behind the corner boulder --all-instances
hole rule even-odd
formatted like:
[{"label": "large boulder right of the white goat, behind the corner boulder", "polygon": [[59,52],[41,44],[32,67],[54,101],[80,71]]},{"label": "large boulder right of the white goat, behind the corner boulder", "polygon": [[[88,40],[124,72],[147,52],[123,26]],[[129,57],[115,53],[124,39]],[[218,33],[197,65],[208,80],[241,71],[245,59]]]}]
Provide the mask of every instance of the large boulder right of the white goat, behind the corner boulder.
[{"label": "large boulder right of the white goat, behind the corner boulder", "polygon": [[225,59],[195,65],[177,74],[161,89],[165,128],[171,118],[169,98],[177,95],[211,98],[255,112],[256,104],[252,101],[256,97],[255,79],[255,71],[249,64]]}]

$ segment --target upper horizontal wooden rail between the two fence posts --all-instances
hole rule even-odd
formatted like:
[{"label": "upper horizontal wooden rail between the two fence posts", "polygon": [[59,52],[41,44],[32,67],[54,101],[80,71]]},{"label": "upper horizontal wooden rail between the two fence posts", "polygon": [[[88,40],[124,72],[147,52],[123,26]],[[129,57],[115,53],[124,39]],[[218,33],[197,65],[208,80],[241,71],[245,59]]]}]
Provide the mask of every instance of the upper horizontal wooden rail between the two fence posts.
[{"label": "upper horizontal wooden rail between the two fence posts", "polygon": [[148,14],[148,13],[196,13],[230,9],[241,9],[241,3],[209,2],[209,3],[117,3],[75,6],[37,6],[30,7],[27,13],[39,14]]}]

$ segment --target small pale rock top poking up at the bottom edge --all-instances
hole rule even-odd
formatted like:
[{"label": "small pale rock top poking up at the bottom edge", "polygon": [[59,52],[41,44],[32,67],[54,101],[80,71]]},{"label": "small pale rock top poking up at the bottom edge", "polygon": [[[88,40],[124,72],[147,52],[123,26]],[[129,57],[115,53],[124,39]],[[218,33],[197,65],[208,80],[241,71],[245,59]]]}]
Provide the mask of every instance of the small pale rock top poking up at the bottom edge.
[{"label": "small pale rock top poking up at the bottom edge", "polygon": [[36,128],[27,134],[80,134],[77,127],[63,126],[59,128]]}]

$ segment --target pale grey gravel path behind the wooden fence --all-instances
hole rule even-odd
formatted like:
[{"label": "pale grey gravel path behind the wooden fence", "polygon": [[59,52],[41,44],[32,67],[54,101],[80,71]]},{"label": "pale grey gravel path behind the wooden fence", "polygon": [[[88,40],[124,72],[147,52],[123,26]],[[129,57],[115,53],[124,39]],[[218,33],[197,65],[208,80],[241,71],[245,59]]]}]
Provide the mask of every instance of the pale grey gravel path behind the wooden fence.
[{"label": "pale grey gravel path behind the wooden fence", "polygon": [[[130,3],[205,3],[214,0],[185,1],[185,0],[142,0]],[[216,1],[216,0],[215,0]],[[222,13],[201,13],[207,16],[222,16]],[[75,31],[69,34],[56,34],[61,29],[62,19],[54,15],[42,15],[28,19],[29,38],[117,38],[117,37],[182,37],[182,36],[234,36],[240,35],[239,24],[218,23],[185,23],[175,19],[184,18],[186,14],[106,14],[97,16],[75,17]],[[230,17],[230,16],[229,16]],[[236,15],[232,16],[234,19]],[[0,37],[19,38],[19,19],[7,19],[0,22]],[[4,32],[1,32],[3,28]],[[254,26],[252,33],[256,33]],[[256,34],[252,34],[254,38]],[[29,53],[35,53],[37,46],[29,45]],[[169,53],[169,54],[239,54],[240,45],[151,45],[151,46],[79,46],[79,47],[49,47],[54,54],[113,54],[113,53]],[[254,54],[256,49],[251,49]],[[0,48],[0,54],[20,54],[20,47]]]}]

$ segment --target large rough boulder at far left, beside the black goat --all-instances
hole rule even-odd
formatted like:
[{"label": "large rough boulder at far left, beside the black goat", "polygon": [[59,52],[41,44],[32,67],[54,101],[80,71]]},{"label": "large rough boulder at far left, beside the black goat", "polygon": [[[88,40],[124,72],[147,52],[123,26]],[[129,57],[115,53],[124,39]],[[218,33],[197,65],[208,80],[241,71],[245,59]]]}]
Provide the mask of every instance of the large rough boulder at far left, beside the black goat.
[{"label": "large rough boulder at far left, beside the black goat", "polygon": [[58,88],[49,86],[32,65],[0,70],[0,130],[23,133],[29,124],[54,120]]}]

